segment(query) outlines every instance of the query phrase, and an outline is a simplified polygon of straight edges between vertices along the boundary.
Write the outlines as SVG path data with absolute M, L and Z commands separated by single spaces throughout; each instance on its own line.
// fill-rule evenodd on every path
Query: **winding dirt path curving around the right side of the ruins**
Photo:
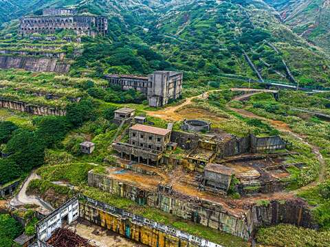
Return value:
M 234 99 L 232 100 L 244 100 L 248 97 L 251 97 L 252 95 L 256 95 L 259 94 L 261 92 L 255 92 L 255 93 L 248 93 L 245 95 L 241 95 L 239 97 L 234 97 Z M 292 129 L 289 127 L 288 124 L 286 124 L 283 121 L 278 121 L 278 120 L 272 120 L 272 119 L 267 119 L 265 117 L 261 117 L 259 115 L 256 115 L 254 113 L 251 113 L 248 110 L 245 109 L 236 109 L 236 108 L 232 108 L 229 106 L 230 103 L 226 104 L 226 107 L 236 113 L 239 113 L 240 115 L 242 115 L 243 117 L 249 117 L 249 118 L 254 118 L 254 119 L 260 119 L 263 121 L 267 121 L 268 123 L 270 123 L 270 125 L 272 125 L 274 128 L 280 130 L 281 132 L 285 132 L 287 134 L 290 134 L 294 137 L 296 137 L 297 139 L 299 139 L 300 141 L 302 141 L 303 143 L 305 143 L 306 145 L 309 145 L 309 147 L 311 148 L 312 152 L 316 155 L 316 157 L 318 158 L 318 162 L 320 163 L 320 171 L 319 171 L 319 176 L 318 176 L 318 182 L 323 182 L 325 180 L 325 176 L 326 176 L 326 163 L 325 163 L 325 159 L 323 158 L 322 154 L 320 153 L 320 148 L 318 148 L 316 145 L 313 145 L 311 143 L 309 143 L 305 137 L 303 137 L 300 134 L 296 134 L 295 132 L 292 131 Z M 307 187 L 302 187 L 300 188 L 300 190 L 302 189 L 307 189 L 309 188 L 311 185 L 315 185 L 316 182 L 311 183 L 310 185 L 307 185 Z

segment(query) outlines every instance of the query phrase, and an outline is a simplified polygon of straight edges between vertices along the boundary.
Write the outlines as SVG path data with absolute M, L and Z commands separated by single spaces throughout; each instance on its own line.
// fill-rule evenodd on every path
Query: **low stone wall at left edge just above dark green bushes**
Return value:
M 19 110 L 24 113 L 30 113 L 33 115 L 40 116 L 64 116 L 66 114 L 65 110 L 60 110 L 56 108 L 51 108 L 48 106 L 35 106 L 26 104 L 25 102 L 14 101 L 10 99 L 0 98 L 0 108 L 7 108 L 11 110 Z

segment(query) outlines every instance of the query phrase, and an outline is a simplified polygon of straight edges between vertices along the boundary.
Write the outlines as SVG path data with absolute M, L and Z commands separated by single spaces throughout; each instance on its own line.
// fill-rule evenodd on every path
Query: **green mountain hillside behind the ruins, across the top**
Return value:
M 287 12 L 285 20 L 293 25 L 294 20 L 306 16 L 303 3 L 306 1 L 274 1 L 272 5 L 270 1 L 254 0 L 30 1 L 28 4 L 17 1 L 14 10 L 20 11 L 14 12 L 13 16 L 19 17 L 31 10 L 38 12 L 49 6 L 74 4 L 80 12 L 108 16 L 109 40 L 98 40 L 97 44 L 92 40 L 86 41 L 85 52 L 72 67 L 72 75 L 87 68 L 89 71 L 98 69 L 98 74 L 145 74 L 152 69 L 174 68 L 185 71 L 186 78 L 192 80 L 197 77 L 220 80 L 219 76 L 231 74 L 259 80 L 329 86 L 327 55 L 298 36 L 298 26 L 293 27 L 298 34 L 292 32 L 274 11 L 276 8 L 282 16 Z M 11 4 L 6 2 L 3 8 L 8 10 Z M 311 10 L 313 6 L 309 5 L 309 12 L 314 11 Z M 17 24 L 12 24 L 5 32 L 14 32 L 16 28 Z M 327 43 L 327 39 L 321 36 L 318 40 Z M 98 49 L 94 49 L 94 45 Z M 146 60 L 160 63 L 151 62 L 154 64 L 151 69 L 142 69 L 146 62 L 137 62 L 134 56 L 131 56 L 134 62 L 130 59 L 109 59 L 110 55 L 121 56 L 123 52 L 134 54 L 136 47 L 141 45 L 158 54 L 157 59 L 149 56 Z M 95 58 L 101 62 L 96 64 Z M 89 60 L 94 62 L 87 65 Z M 202 81 L 206 83 L 205 80 Z

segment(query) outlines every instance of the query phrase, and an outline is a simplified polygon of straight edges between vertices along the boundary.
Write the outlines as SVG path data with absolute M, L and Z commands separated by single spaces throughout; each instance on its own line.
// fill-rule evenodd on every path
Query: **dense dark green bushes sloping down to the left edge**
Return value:
M 0 184 L 8 183 L 30 172 L 34 167 L 43 165 L 46 148 L 54 147 L 65 138 L 69 130 L 81 126 L 84 121 L 93 117 L 94 104 L 90 99 L 85 99 L 67 106 L 65 117 L 34 118 L 35 130 L 33 131 L 22 128 L 14 130 L 17 127 L 13 124 L 0 122 L 0 132 L 1 125 L 8 126 L 7 132 L 3 130 L 3 140 L 8 139 L 8 133 L 14 130 L 3 148 L 3 152 L 9 156 L 0 159 Z

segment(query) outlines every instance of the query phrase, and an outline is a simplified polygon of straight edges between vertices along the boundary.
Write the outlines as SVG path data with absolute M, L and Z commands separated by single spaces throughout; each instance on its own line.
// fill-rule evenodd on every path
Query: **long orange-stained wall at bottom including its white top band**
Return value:
M 120 235 L 151 247 L 221 247 L 207 239 L 179 231 L 172 226 L 159 224 L 140 215 L 111 205 L 83 198 L 80 200 L 80 217 L 103 226 Z

